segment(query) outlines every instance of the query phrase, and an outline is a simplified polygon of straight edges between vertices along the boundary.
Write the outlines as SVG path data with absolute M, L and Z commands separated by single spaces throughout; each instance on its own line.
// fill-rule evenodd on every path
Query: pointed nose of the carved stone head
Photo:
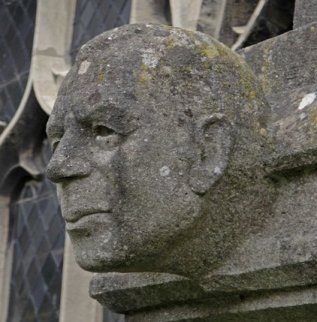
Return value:
M 88 176 L 91 165 L 84 149 L 84 146 L 66 144 L 62 139 L 47 165 L 47 177 L 55 183 L 61 183 Z

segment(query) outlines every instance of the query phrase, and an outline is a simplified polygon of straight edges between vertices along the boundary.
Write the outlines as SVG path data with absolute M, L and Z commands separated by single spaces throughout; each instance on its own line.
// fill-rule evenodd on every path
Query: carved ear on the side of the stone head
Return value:
M 223 175 L 233 143 L 233 127 L 223 114 L 201 118 L 195 129 L 198 144 L 197 159 L 190 172 L 190 187 L 205 194 Z

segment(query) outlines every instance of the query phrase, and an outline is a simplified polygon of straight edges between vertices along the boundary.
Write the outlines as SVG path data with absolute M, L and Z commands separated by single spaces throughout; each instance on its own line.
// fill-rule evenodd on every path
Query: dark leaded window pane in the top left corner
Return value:
M 29 75 L 36 0 L 0 0 L 0 121 L 8 123 Z

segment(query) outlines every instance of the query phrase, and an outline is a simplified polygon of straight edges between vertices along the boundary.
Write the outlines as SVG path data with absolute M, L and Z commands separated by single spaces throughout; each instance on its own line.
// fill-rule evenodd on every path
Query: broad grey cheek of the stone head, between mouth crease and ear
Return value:
M 149 142 L 147 148 L 134 144 L 127 149 L 122 176 L 126 229 L 151 238 L 186 228 L 198 207 L 197 196 L 188 185 L 189 161 L 172 147 L 156 147 Z

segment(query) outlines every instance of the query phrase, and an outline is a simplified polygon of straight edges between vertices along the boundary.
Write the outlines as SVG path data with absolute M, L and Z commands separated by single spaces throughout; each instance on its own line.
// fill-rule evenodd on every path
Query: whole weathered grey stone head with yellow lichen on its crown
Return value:
M 78 263 L 212 271 L 265 222 L 265 99 L 247 64 L 199 32 L 127 25 L 84 45 L 47 132 Z

